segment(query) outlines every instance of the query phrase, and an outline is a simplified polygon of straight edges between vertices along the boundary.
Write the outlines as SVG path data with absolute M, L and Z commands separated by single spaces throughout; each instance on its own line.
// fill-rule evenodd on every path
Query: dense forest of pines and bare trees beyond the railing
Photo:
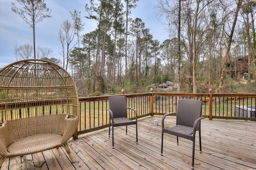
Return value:
M 62 64 L 80 96 L 148 92 L 166 81 L 176 84 L 174 92 L 256 92 L 256 82 L 240 84 L 243 73 L 256 79 L 255 0 L 158 0 L 157 15 L 166 20 L 156 24 L 169 30 L 162 43 L 140 18 L 129 17 L 137 1 L 90 0 L 60 25 L 62 60 L 39 47 L 34 56 Z M 98 25 L 81 35 L 84 16 Z

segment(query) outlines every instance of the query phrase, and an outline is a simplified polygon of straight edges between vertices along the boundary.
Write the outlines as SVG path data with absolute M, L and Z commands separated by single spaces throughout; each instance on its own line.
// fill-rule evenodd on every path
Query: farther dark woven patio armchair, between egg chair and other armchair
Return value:
M 133 108 L 127 107 L 126 97 L 124 96 L 113 96 L 108 98 L 110 112 L 109 117 L 109 131 L 108 137 L 110 137 L 110 121 L 112 121 L 112 148 L 114 149 L 114 127 L 125 126 L 127 134 L 127 125 L 136 125 L 136 144 L 138 144 L 138 130 L 137 130 L 137 111 Z M 127 118 L 127 109 L 131 109 L 135 113 L 135 120 L 132 121 Z

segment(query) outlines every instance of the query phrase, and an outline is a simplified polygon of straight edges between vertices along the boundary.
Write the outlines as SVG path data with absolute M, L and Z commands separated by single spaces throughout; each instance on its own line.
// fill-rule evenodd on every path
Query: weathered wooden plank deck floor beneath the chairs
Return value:
M 1 170 L 189 170 L 191 167 L 192 141 L 164 134 L 164 152 L 161 148 L 161 121 L 154 126 L 154 118 L 138 121 L 138 145 L 135 126 L 115 127 L 114 147 L 108 129 L 79 135 L 68 141 L 76 159 L 72 164 L 63 148 L 37 154 L 6 159 Z M 175 125 L 175 118 L 166 118 L 166 125 Z M 202 153 L 196 135 L 195 170 L 250 170 L 256 169 L 256 122 L 203 119 Z

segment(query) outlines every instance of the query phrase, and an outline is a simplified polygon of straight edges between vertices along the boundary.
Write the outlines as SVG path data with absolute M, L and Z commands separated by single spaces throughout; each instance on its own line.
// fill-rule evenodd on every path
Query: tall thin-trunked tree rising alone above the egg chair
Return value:
M 20 16 L 33 29 L 34 59 L 36 59 L 35 25 L 44 18 L 50 18 L 52 10 L 46 7 L 44 0 L 16 0 L 22 8 L 18 8 L 12 2 L 12 11 Z

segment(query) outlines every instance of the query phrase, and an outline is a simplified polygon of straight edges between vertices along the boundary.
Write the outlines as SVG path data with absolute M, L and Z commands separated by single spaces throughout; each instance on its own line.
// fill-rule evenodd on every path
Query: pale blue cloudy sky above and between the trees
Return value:
M 12 12 L 12 2 L 18 6 L 15 0 L 0 0 L 0 68 L 16 61 L 13 51 L 15 45 L 33 45 L 33 30 L 20 16 Z M 82 35 L 94 31 L 97 23 L 83 17 L 87 15 L 84 7 L 85 4 L 90 4 L 89 0 L 45 0 L 44 3 L 52 10 L 52 18 L 45 18 L 35 25 L 36 47 L 39 45 L 50 48 L 53 51 L 52 57 L 60 59 L 61 44 L 58 31 L 64 20 L 72 21 L 69 12 L 81 12 L 84 23 Z M 139 0 L 136 4 L 137 7 L 132 9 L 130 18 L 142 19 L 145 28 L 150 29 L 153 39 L 158 39 L 160 43 L 168 39 L 165 25 L 160 23 L 157 17 L 158 0 Z

